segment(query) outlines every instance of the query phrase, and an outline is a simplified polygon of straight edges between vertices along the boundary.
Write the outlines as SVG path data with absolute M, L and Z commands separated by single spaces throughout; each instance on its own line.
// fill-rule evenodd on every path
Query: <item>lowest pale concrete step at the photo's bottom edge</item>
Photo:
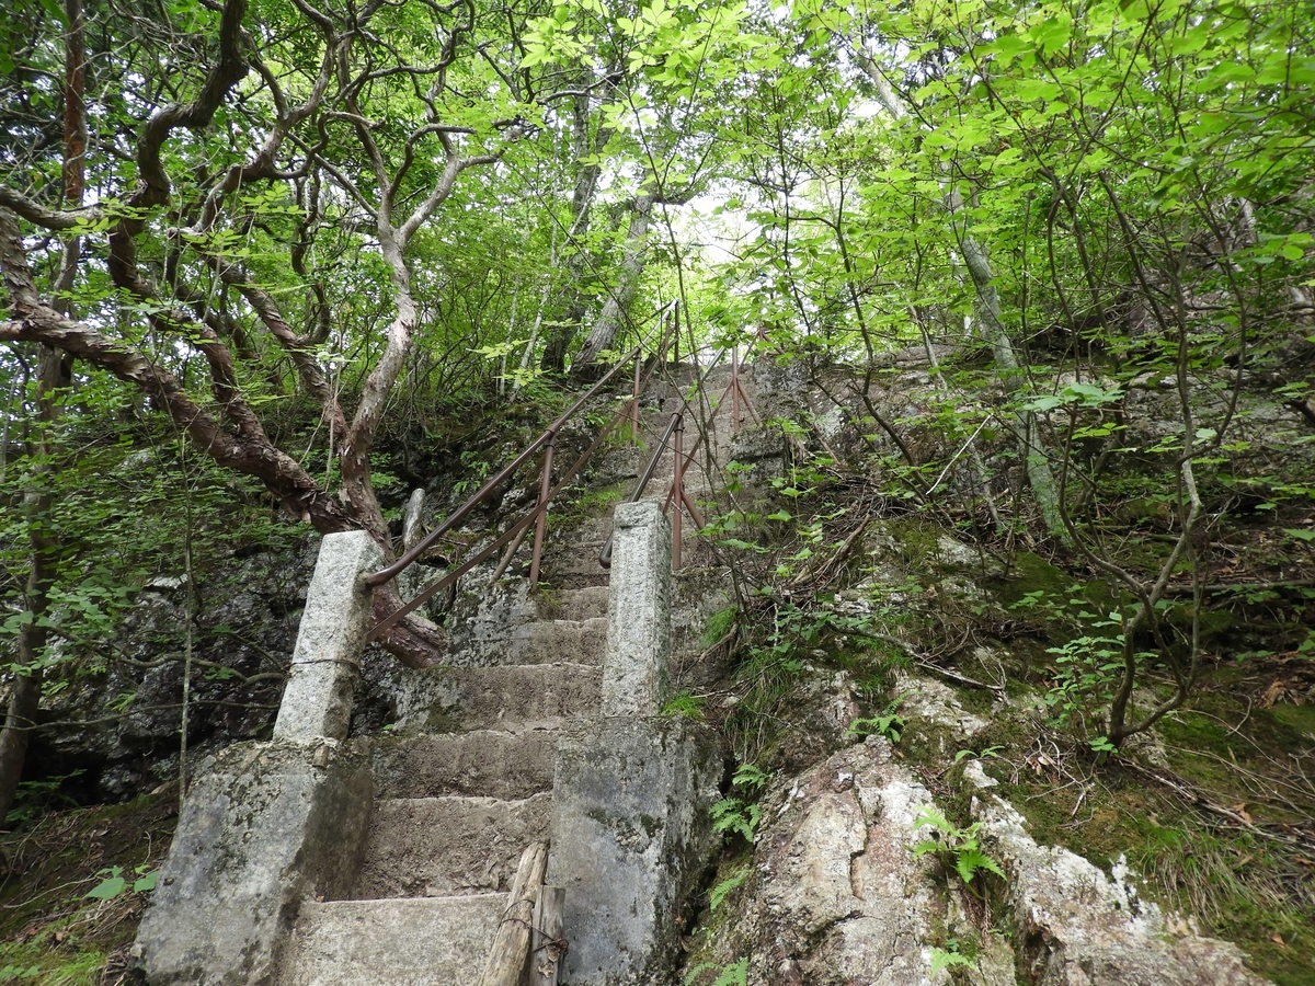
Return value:
M 506 894 L 301 906 L 279 986 L 469 986 Z

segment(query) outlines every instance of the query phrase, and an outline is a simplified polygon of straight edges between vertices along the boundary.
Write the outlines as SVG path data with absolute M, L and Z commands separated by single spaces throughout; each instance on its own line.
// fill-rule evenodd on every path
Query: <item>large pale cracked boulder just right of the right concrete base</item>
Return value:
M 931 982 L 926 943 L 947 906 L 935 864 L 913 857 L 930 806 L 876 736 L 797 777 L 764 806 L 752 877 L 714 954 L 747 956 L 751 983 Z

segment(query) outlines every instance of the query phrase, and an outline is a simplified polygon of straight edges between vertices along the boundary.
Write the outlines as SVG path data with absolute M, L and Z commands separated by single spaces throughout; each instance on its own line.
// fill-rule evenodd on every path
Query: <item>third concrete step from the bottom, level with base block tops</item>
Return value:
M 443 794 L 529 798 L 552 789 L 555 730 L 477 730 L 375 741 L 375 787 L 381 798 Z

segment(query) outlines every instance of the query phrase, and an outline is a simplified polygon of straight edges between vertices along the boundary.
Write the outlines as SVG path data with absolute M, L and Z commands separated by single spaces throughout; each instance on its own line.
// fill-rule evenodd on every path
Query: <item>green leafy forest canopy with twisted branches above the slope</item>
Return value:
M 16 722 L 47 631 L 71 632 L 51 601 L 108 619 L 124 581 L 91 577 L 96 525 L 70 526 L 60 497 L 92 489 L 124 515 L 113 463 L 92 463 L 128 455 L 125 430 L 206 459 L 226 477 L 216 496 L 263 492 L 392 556 L 404 490 L 377 468 L 381 430 L 551 394 L 672 298 L 692 344 L 757 339 L 760 359 L 869 380 L 909 346 L 982 354 L 1027 476 L 997 502 L 968 456 L 984 523 L 1122 585 L 1132 668 L 1135 632 L 1159 639 L 1168 581 L 1199 547 L 1197 471 L 1233 447 L 1244 383 L 1270 380 L 1315 419 L 1294 362 L 1315 284 L 1306 14 L 1295 0 L 11 3 L 0 472 L 20 509 L 4 626 L 30 686 Z M 1177 393 L 1180 427 L 1130 450 L 1120 401 L 1148 381 Z M 968 448 L 985 427 L 974 396 L 947 402 Z M 903 454 L 907 496 L 932 498 L 942 463 L 913 461 L 874 410 L 871 425 Z M 1178 490 L 1174 547 L 1149 573 L 1088 527 L 1107 461 L 1131 454 L 1164 456 Z M 376 609 L 396 605 L 381 588 Z M 418 618 L 387 644 L 413 664 L 441 652 Z M 1134 681 L 1114 698 L 1115 744 L 1140 727 L 1124 722 Z

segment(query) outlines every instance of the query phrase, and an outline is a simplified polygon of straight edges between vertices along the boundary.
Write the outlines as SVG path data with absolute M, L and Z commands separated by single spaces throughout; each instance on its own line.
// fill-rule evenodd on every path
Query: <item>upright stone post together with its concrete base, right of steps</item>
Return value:
M 722 765 L 711 731 L 661 716 L 671 655 L 671 527 L 617 507 L 602 718 L 558 749 L 548 883 L 565 887 L 563 979 L 665 982 L 680 908 L 713 849 Z

